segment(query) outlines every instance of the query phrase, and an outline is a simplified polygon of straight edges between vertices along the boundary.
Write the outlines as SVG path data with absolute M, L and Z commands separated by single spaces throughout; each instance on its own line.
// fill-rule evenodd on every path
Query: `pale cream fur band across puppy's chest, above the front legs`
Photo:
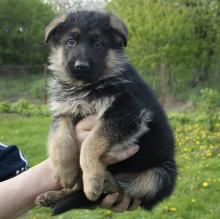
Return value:
M 113 97 L 104 97 L 88 101 L 86 98 L 69 99 L 68 101 L 51 102 L 51 111 L 53 116 L 73 116 L 85 117 L 90 114 L 101 116 L 105 110 L 111 106 Z

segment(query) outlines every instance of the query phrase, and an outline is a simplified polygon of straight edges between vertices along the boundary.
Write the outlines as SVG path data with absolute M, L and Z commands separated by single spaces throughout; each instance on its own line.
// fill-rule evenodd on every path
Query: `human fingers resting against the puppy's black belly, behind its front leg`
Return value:
M 102 160 L 105 165 L 111 165 L 128 159 L 129 157 L 137 153 L 138 150 L 139 146 L 133 145 L 127 148 L 123 148 L 121 150 L 119 149 L 117 151 L 109 151 L 103 156 Z

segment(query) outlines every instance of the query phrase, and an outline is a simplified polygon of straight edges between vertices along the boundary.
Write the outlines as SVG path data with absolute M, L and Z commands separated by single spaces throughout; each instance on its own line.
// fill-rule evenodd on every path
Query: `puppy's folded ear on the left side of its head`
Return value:
M 55 29 L 63 23 L 67 18 L 67 15 L 61 15 L 59 17 L 54 18 L 45 28 L 45 37 L 44 42 L 48 43 L 52 33 L 54 33 Z

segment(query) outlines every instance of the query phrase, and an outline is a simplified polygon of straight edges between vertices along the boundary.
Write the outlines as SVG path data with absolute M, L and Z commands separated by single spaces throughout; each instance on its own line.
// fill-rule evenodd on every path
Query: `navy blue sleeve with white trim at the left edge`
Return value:
M 0 182 L 28 169 L 28 162 L 16 145 L 0 143 Z

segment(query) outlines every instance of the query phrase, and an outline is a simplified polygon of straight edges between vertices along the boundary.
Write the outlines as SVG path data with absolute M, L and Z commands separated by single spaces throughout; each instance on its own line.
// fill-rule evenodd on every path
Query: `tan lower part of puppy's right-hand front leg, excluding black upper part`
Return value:
M 101 126 L 95 127 L 82 144 L 80 165 L 83 172 L 84 192 L 89 200 L 95 201 L 102 193 L 105 165 L 100 158 L 109 147 L 109 141 L 103 136 Z

